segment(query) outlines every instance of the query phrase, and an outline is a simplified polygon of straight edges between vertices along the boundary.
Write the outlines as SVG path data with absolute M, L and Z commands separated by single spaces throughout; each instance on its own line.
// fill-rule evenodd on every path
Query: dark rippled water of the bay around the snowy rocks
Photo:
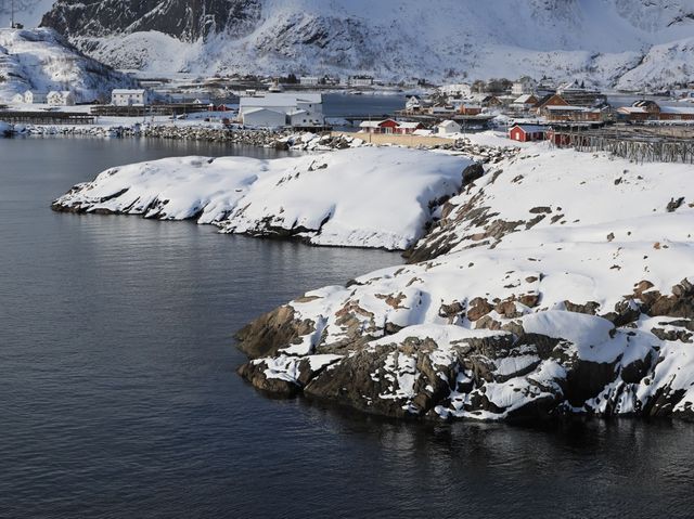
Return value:
M 267 399 L 233 330 L 399 261 L 49 210 L 222 146 L 0 140 L 0 517 L 692 517 L 694 426 L 399 424 Z

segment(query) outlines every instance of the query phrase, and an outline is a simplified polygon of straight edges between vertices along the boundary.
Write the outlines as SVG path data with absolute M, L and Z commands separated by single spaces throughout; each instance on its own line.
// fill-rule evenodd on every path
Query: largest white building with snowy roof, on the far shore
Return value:
M 239 117 L 245 126 L 254 127 L 321 127 L 323 96 L 321 94 L 268 93 L 264 96 L 241 98 Z

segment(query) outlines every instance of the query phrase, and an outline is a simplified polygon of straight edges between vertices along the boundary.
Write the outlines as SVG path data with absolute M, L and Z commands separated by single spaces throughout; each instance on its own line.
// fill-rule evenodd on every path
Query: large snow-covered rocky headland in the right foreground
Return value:
M 240 373 L 389 416 L 693 418 L 693 185 L 689 165 L 528 148 L 445 205 L 416 263 L 242 329 Z

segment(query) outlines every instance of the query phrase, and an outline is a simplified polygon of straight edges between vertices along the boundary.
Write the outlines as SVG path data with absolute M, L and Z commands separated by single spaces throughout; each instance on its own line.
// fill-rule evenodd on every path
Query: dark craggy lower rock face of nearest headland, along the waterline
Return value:
M 678 288 L 687 285 L 683 281 L 658 300 L 667 298 L 677 315 L 693 311 L 691 293 Z M 309 299 L 298 300 L 297 307 L 318 300 Z M 459 303 L 447 309 L 449 317 L 464 313 Z M 634 321 L 646 319 L 650 309 L 648 303 L 639 303 Z M 346 315 L 354 320 L 343 340 L 332 342 L 323 328 L 304 350 L 306 354 L 295 354 L 292 350 L 301 343 L 301 336 L 314 334 L 316 328 L 285 306 L 237 334 L 239 347 L 253 359 L 239 374 L 271 393 L 303 393 L 398 418 L 522 420 L 567 413 L 691 416 L 691 386 L 676 388 L 681 385 L 680 375 L 670 371 L 667 380 L 659 372 L 670 362 L 667 345 L 692 345 L 692 320 L 660 322 L 652 334 L 638 330 L 634 323 L 608 324 L 603 342 L 588 346 L 599 349 L 594 354 L 582 351 L 586 343 L 526 332 L 524 319 L 515 315 L 498 316 L 504 326 L 496 330 L 480 326 L 483 314 L 494 311 L 477 297 L 466 314 L 478 323 L 472 330 L 413 326 L 390 335 L 372 326 L 363 336 L 354 324 L 364 323 L 364 311 L 350 308 L 340 314 L 343 325 L 349 321 Z M 586 323 L 608 323 L 596 316 L 590 320 L 595 321 Z M 514 321 L 515 326 L 506 326 Z M 637 341 L 638 351 L 629 348 L 631 340 Z M 312 368 L 311 363 L 320 367 Z

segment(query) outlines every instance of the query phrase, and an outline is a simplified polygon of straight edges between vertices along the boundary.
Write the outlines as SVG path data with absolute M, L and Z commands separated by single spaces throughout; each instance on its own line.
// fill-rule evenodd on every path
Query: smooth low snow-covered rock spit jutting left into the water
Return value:
M 316 245 L 404 249 L 460 191 L 471 164 L 387 147 L 271 160 L 168 158 L 104 171 L 53 208 L 196 219 L 223 232 L 295 236 Z

